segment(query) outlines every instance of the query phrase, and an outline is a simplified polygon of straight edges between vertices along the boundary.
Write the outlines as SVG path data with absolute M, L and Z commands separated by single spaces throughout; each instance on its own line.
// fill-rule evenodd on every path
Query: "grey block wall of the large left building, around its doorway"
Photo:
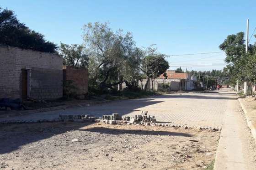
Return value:
M 28 97 L 62 97 L 62 57 L 0 45 L 0 98 L 21 98 L 21 69 L 28 70 Z

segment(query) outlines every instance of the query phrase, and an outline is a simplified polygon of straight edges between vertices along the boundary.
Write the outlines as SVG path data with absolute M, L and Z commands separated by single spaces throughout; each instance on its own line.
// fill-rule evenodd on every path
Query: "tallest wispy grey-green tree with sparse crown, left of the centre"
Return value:
M 83 30 L 84 41 L 90 52 L 90 82 L 98 84 L 100 92 L 105 88 L 113 89 L 113 86 L 123 82 L 123 66 L 135 45 L 132 34 L 123 34 L 122 30 L 114 32 L 107 23 L 98 22 L 89 22 Z

